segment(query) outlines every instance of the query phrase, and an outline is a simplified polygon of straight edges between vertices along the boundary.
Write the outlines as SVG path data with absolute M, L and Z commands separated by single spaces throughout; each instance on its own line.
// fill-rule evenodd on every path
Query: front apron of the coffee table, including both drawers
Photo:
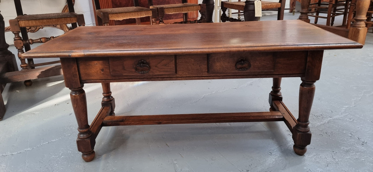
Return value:
M 308 51 L 244 51 L 83 57 L 76 58 L 76 66 L 82 83 L 303 77 L 308 58 L 311 58 L 308 54 Z

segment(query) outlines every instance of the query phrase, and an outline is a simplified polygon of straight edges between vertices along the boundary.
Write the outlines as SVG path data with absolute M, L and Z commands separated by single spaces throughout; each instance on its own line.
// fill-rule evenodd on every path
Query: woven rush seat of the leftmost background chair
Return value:
M 22 15 L 17 16 L 15 19 L 18 21 L 19 27 L 29 27 L 76 23 L 78 22 L 78 16 L 76 13 L 48 13 Z

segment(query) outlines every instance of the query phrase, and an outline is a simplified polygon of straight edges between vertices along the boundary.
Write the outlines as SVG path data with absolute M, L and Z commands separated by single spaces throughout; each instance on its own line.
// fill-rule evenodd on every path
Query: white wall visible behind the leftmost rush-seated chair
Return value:
M 61 12 L 66 0 L 21 0 L 22 10 L 25 14 L 40 14 L 40 13 L 58 13 Z M 83 14 L 86 25 L 94 25 L 93 6 L 91 0 L 75 0 L 74 9 L 76 13 Z M 0 2 L 1 15 L 4 17 L 5 26 L 9 26 L 9 19 L 16 18 L 16 9 L 13 0 L 1 0 Z M 58 36 L 63 34 L 63 31 L 55 28 L 44 28 L 35 33 L 30 33 L 32 39 L 40 37 Z M 14 34 L 12 32 L 5 33 L 6 42 L 9 45 L 13 44 Z

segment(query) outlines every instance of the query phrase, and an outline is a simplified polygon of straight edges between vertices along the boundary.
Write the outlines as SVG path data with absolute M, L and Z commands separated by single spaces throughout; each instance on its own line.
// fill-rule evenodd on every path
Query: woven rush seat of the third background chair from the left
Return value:
M 192 12 L 192 11 L 198 11 L 201 9 L 201 6 L 199 4 L 192 4 L 192 3 L 150 6 L 150 8 L 160 8 L 160 7 L 164 8 L 165 14 L 187 13 L 187 12 Z

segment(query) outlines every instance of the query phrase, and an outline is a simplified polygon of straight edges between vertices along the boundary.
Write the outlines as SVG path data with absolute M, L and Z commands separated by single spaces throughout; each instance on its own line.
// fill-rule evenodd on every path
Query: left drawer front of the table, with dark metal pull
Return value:
M 125 75 L 167 75 L 175 74 L 175 56 L 131 56 L 110 57 L 110 74 Z

